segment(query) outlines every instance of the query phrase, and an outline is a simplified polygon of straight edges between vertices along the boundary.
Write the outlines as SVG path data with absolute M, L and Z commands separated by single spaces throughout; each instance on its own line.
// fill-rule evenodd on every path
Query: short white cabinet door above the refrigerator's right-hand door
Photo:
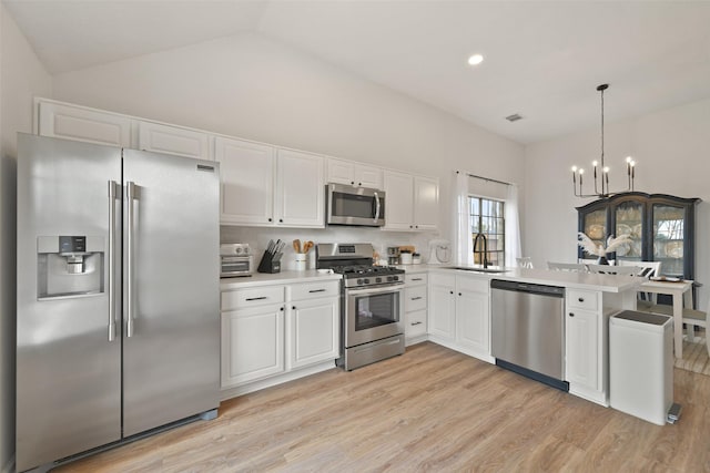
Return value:
M 140 122 L 139 148 L 178 156 L 210 160 L 210 135 L 178 126 Z

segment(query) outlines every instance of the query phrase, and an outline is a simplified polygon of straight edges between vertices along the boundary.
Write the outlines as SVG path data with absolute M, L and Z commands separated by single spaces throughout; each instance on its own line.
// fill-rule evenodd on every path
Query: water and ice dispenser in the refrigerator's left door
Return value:
M 89 296 L 103 292 L 105 239 L 100 236 L 37 238 L 37 297 Z

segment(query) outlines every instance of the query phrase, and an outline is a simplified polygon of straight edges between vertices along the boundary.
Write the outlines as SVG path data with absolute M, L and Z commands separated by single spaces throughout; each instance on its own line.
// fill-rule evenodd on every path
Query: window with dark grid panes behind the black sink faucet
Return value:
M 505 266 L 506 223 L 504 203 L 484 197 L 469 197 L 470 199 L 470 232 L 475 241 L 479 233 L 486 237 L 488 264 L 491 266 Z M 474 248 L 474 263 L 483 264 L 483 241 L 478 239 L 478 246 Z

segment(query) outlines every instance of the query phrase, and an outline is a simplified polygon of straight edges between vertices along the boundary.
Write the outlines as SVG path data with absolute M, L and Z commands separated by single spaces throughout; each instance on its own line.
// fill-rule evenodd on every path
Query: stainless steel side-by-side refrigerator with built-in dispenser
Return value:
M 17 469 L 216 415 L 219 164 L 18 135 Z

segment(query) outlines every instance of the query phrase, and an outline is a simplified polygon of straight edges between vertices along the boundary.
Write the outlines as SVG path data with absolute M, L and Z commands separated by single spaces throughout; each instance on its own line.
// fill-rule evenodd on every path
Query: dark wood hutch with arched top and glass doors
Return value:
M 629 192 L 577 207 L 579 232 L 596 243 L 628 234 L 631 243 L 608 259 L 661 261 L 663 276 L 693 279 L 696 204 L 699 198 Z M 596 258 L 581 248 L 579 258 Z

